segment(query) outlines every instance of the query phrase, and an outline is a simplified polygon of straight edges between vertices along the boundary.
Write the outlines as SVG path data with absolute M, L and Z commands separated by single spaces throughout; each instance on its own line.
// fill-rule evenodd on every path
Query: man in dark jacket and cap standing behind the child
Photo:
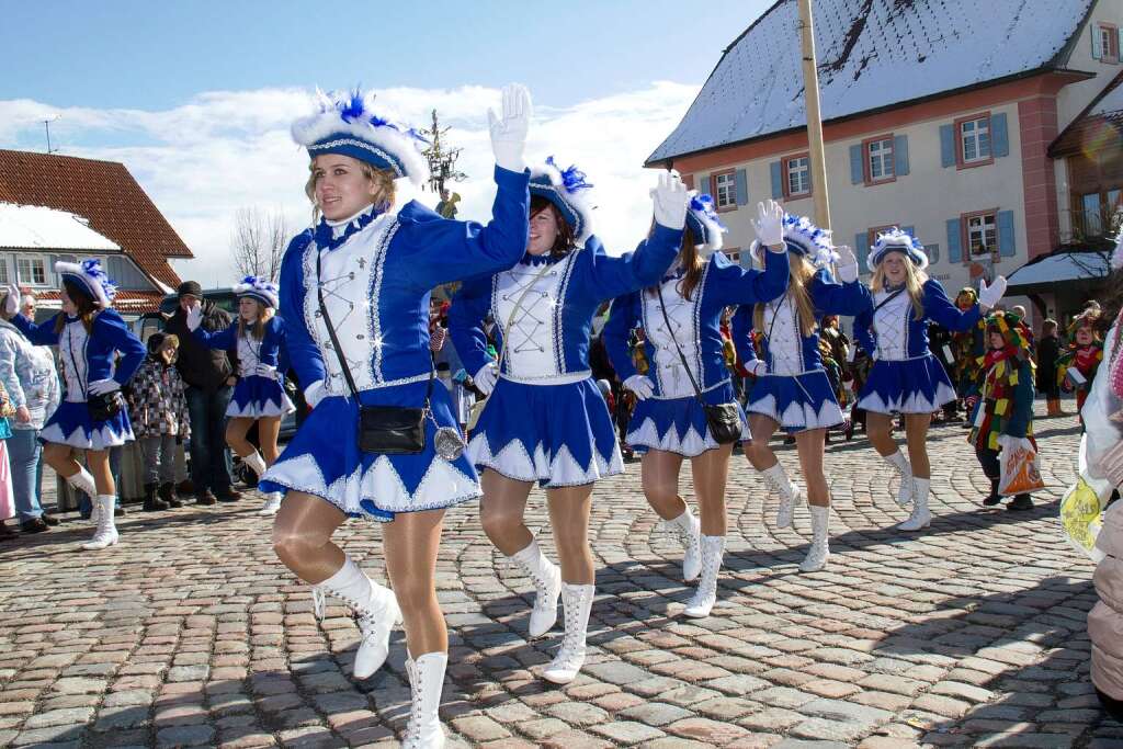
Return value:
M 188 411 L 191 417 L 191 482 L 199 504 L 234 502 L 238 492 L 230 486 L 230 450 L 226 445 L 226 408 L 234 392 L 236 353 L 212 350 L 188 330 L 188 308 L 199 302 L 203 310 L 202 327 L 208 332 L 226 330 L 230 316 L 214 302 L 203 299 L 195 281 L 184 281 L 179 287 L 180 307 L 168 319 L 165 330 L 180 338 L 176 368 L 186 385 Z

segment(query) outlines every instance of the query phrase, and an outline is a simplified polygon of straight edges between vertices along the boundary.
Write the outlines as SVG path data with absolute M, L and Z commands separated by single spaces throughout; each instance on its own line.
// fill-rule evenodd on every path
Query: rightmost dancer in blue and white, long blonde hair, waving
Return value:
M 866 410 L 866 432 L 874 449 L 901 475 L 897 502 L 913 503 L 909 519 L 897 528 L 921 530 L 932 522 L 928 427 L 932 412 L 957 398 L 943 365 L 929 351 L 929 320 L 953 332 L 970 330 L 1002 299 L 1006 280 L 998 276 L 989 287 L 982 282 L 979 301 L 962 311 L 940 282 L 924 272 L 924 246 L 897 228 L 878 235 L 868 263 L 874 295 L 869 308 L 855 319 L 853 332 L 875 362 L 858 394 L 858 407 Z M 895 413 L 904 415 L 909 458 L 893 439 Z

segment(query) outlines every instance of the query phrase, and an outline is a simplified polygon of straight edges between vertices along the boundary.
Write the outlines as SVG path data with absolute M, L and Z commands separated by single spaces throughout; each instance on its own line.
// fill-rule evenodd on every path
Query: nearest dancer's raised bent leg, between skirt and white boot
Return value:
M 273 550 L 305 583 L 317 585 L 344 566 L 344 552 L 331 535 L 347 515 L 304 492 L 289 492 L 273 521 Z

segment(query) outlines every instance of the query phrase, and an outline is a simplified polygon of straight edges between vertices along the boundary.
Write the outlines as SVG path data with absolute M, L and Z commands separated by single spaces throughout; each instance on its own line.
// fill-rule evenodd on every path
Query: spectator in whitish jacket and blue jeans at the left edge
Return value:
M 0 308 L 8 293 L 0 291 Z M 25 294 L 21 301 L 25 317 L 33 319 L 35 298 Z M 7 447 L 16 512 L 24 532 L 40 533 L 58 524 L 43 510 L 43 446 L 38 439 L 47 417 L 58 407 L 58 373 L 51 349 L 33 346 L 8 320 L 0 320 L 0 384 L 15 408 Z

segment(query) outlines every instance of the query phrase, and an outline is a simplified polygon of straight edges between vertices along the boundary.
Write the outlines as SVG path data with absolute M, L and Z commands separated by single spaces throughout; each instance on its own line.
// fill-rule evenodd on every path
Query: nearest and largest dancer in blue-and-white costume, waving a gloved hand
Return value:
M 432 385 L 429 295 L 441 283 L 510 267 L 526 253 L 530 95 L 511 86 L 502 118 L 490 112 L 497 192 L 487 226 L 442 219 L 417 201 L 396 204 L 396 177 L 428 177 L 423 144 L 372 106 L 358 92 L 335 94 L 293 126 L 312 158 L 307 192 L 322 218 L 285 253 L 281 314 L 313 408 L 261 488 L 285 492 L 273 530 L 281 560 L 316 586 L 317 601 L 332 593 L 354 606 L 363 634 L 357 677 L 382 665 L 390 630 L 404 619 L 412 710 L 403 745 L 440 747 L 437 709 L 448 663 L 436 591 L 441 521 L 446 508 L 478 497 L 480 484 L 453 449 L 463 444 L 448 391 Z M 427 402 L 420 453 L 360 451 L 359 404 L 421 410 Z M 348 515 L 393 521 L 382 533 L 393 592 L 331 542 Z

